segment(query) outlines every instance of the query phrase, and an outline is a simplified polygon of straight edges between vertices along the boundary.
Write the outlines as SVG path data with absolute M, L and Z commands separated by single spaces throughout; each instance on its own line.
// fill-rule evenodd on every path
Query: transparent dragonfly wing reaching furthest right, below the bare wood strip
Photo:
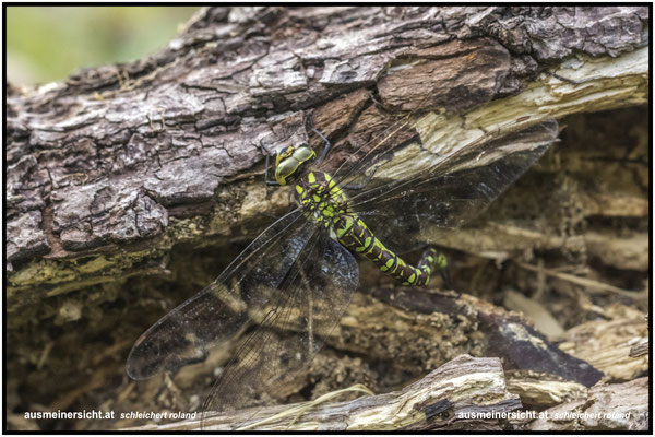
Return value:
M 350 208 L 391 249 L 414 249 L 428 227 L 457 228 L 481 213 L 537 162 L 558 132 L 555 120 L 495 132 L 417 177 L 354 191 Z

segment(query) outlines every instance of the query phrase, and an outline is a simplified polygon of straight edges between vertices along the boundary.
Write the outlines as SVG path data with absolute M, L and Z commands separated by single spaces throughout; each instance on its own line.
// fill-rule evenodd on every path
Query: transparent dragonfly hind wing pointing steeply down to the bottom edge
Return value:
M 282 399 L 298 371 L 322 347 L 357 287 L 355 258 L 329 233 L 314 233 L 276 287 L 243 284 L 270 296 L 251 311 L 259 328 L 239 346 L 203 405 L 202 427 L 214 412 Z M 254 399 L 254 397 L 258 397 Z

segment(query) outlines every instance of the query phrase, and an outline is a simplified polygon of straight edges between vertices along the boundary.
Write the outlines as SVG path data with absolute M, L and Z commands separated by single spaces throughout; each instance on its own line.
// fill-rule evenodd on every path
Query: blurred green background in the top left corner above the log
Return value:
M 7 76 L 14 85 L 64 80 L 83 67 L 156 51 L 198 11 L 190 7 L 8 7 Z

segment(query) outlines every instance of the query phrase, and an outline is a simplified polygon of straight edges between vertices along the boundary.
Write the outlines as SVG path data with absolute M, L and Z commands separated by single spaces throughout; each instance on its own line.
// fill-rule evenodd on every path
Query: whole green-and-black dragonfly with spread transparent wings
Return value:
M 420 144 L 416 113 L 397 120 L 341 162 L 307 143 L 275 156 L 270 178 L 290 186 L 297 206 L 262 232 L 221 275 L 145 331 L 127 362 L 133 379 L 204 361 L 231 349 L 202 405 L 201 426 L 216 412 L 284 399 L 338 324 L 359 282 L 356 257 L 405 286 L 446 272 L 428 247 L 412 265 L 406 250 L 428 227 L 451 232 L 485 210 L 556 141 L 556 120 L 499 128 L 408 178 L 389 177 L 393 154 Z M 234 344 L 234 339 L 241 339 Z

